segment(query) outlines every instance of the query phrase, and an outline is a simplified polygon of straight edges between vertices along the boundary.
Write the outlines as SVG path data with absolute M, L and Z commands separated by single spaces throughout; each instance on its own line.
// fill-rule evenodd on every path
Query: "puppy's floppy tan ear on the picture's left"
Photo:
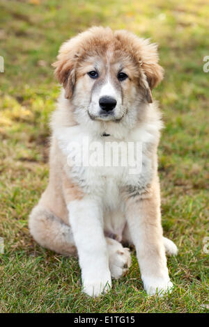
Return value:
M 71 41 L 71 40 L 70 40 Z M 70 41 L 63 43 L 57 56 L 57 61 L 52 64 L 55 67 L 54 74 L 59 83 L 63 84 L 65 89 L 65 98 L 72 97 L 76 81 L 76 62 L 77 54 L 75 47 L 72 47 Z

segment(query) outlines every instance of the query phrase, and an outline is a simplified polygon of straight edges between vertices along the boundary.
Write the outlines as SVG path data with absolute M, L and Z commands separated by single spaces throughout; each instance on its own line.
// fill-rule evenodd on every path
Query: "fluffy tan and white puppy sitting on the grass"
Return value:
M 130 267 L 122 244 L 135 246 L 146 292 L 168 292 L 165 251 L 175 255 L 177 248 L 163 237 L 160 216 L 162 122 L 151 93 L 163 77 L 157 46 L 93 27 L 63 43 L 53 65 L 63 88 L 51 121 L 49 184 L 29 217 L 31 234 L 41 246 L 78 255 L 89 296 L 107 292 L 111 277 Z M 124 149 L 136 144 L 134 169 Z M 100 161 L 107 145 L 113 151 L 105 163 L 117 154 L 127 164 L 95 164 L 93 150 Z

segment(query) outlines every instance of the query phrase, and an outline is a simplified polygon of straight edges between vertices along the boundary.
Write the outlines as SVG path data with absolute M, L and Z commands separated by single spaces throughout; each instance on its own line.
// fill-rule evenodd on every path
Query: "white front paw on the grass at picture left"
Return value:
M 106 294 L 111 289 L 111 276 L 105 276 L 103 278 L 94 278 L 93 280 L 84 280 L 83 292 L 92 297 L 98 297 L 102 294 Z

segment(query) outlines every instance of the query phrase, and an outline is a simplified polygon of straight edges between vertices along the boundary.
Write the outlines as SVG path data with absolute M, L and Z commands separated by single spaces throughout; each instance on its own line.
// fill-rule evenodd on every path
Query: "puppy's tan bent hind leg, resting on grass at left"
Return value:
M 63 223 L 47 208 L 37 205 L 29 216 L 33 238 L 45 248 L 61 255 L 75 255 L 76 248 L 70 226 Z

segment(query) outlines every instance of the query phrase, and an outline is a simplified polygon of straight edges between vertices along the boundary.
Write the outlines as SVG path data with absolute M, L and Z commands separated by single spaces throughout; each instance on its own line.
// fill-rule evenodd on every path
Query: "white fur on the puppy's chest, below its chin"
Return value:
M 121 235 L 125 226 L 121 189 L 125 186 L 144 187 L 150 182 L 153 165 L 147 155 L 147 145 L 156 141 L 155 133 L 150 133 L 150 129 L 147 130 L 144 127 L 133 130 L 129 137 L 125 141 L 123 140 L 127 149 L 128 143 L 138 142 L 141 144 L 141 157 L 138 158 L 141 163 L 137 173 L 130 171 L 132 169 L 132 166 L 130 166 L 130 162 L 132 162 L 130 155 L 132 156 L 132 153 L 125 152 L 127 157 L 126 165 L 123 165 L 124 161 L 121 161 L 121 158 L 123 159 L 124 152 L 121 147 L 118 147 L 119 164 L 114 165 L 112 164 L 113 161 L 109 161 L 109 152 L 106 153 L 104 150 L 105 143 L 121 143 L 120 140 L 118 141 L 111 136 L 100 136 L 100 134 L 95 137 L 90 132 L 81 129 L 79 125 L 56 129 L 54 136 L 66 158 L 65 172 L 71 180 L 75 180 L 84 193 L 90 194 L 100 202 L 104 213 L 104 230 Z M 85 143 L 87 140 L 88 145 Z M 93 155 L 92 157 L 92 143 L 94 145 L 95 143 L 100 144 L 103 148 L 104 159 L 107 159 L 106 161 L 100 161 L 100 153 L 98 156 Z M 80 152 L 79 155 L 78 152 Z M 111 155 L 112 153 L 114 152 L 111 152 Z M 79 158 L 79 164 L 75 160 L 76 156 Z M 88 158 L 87 161 L 86 158 Z M 111 162 L 111 164 L 106 165 L 106 162 Z

